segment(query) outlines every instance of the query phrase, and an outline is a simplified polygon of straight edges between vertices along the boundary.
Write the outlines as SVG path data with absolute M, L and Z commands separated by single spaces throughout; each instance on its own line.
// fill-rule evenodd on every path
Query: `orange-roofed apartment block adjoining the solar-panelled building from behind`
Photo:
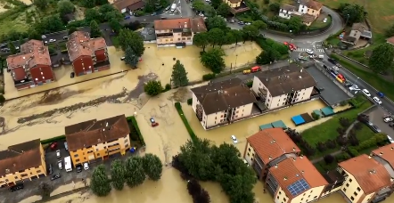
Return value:
M 282 128 L 269 128 L 246 138 L 243 158 L 255 170 L 259 180 L 265 180 L 268 169 L 285 158 L 296 158 L 300 148 Z

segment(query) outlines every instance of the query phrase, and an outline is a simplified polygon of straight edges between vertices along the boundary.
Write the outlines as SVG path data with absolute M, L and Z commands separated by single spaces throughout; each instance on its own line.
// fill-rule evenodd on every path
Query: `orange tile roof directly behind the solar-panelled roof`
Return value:
M 283 154 L 301 151 L 282 128 L 264 129 L 246 139 L 265 164 Z

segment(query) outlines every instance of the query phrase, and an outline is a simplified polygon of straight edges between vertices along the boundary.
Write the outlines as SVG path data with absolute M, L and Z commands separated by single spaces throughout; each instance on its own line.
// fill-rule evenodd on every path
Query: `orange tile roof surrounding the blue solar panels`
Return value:
M 276 166 L 270 167 L 269 173 L 275 177 L 287 197 L 291 199 L 303 193 L 292 196 L 288 190 L 288 186 L 296 181 L 304 179 L 308 183 L 309 189 L 328 184 L 307 157 L 286 158 Z

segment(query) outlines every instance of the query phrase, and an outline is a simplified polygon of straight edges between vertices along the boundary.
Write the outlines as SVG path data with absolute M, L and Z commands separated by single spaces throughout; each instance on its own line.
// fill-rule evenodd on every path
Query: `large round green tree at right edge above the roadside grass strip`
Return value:
M 388 43 L 378 45 L 373 49 L 369 58 L 369 67 L 375 73 L 379 73 L 393 67 L 394 47 Z

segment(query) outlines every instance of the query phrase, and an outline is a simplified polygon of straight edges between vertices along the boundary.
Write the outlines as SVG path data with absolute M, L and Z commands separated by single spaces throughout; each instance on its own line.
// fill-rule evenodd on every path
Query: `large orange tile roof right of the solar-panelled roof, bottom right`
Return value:
M 365 154 L 343 161 L 339 166 L 356 178 L 365 194 L 391 185 L 391 177 L 386 168 Z

